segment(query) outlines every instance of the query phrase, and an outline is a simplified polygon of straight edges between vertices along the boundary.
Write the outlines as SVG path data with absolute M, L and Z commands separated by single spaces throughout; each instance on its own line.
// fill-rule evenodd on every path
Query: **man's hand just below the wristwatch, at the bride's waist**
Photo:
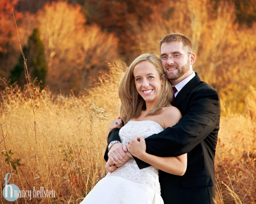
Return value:
M 130 159 L 129 156 L 126 155 L 127 147 L 122 143 L 115 143 L 108 152 L 108 162 L 109 164 L 114 165 L 123 165 L 127 160 Z

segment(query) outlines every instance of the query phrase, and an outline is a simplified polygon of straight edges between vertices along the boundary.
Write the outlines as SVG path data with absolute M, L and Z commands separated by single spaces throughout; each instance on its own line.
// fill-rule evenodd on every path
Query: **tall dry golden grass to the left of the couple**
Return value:
M 112 71 L 102 73 L 95 87 L 79 96 L 52 95 L 33 83 L 21 89 L 0 80 L 5 86 L 1 91 L 0 122 L 8 126 L 2 133 L 7 147 L 1 143 L 0 148 L 12 150 L 13 156 L 21 159 L 18 174 L 12 175 L 13 184 L 30 190 L 36 183 L 38 188 L 55 191 L 55 198 L 37 198 L 39 203 L 79 203 L 105 176 L 104 136 L 109 121 L 119 113 L 116 77 L 124 73 L 118 63 L 109 65 Z M 31 101 L 36 115 L 36 141 Z M 0 157 L 0 165 L 0 176 L 4 178 L 11 171 L 4 156 Z M 0 198 L 7 203 L 2 194 Z M 18 201 L 37 202 L 35 198 Z

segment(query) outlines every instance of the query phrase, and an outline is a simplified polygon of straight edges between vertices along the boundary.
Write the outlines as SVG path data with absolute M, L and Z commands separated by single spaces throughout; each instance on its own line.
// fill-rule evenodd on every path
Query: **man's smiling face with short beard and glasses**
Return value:
M 194 61 L 191 61 L 191 57 L 195 55 L 193 53 L 186 53 L 188 53 L 188 50 L 180 42 L 164 43 L 161 46 L 160 55 L 169 56 L 167 61 L 162 61 L 162 65 L 172 85 L 176 85 L 183 79 L 186 79 L 193 72 L 192 64 Z M 178 60 L 173 60 L 170 56 L 174 54 L 185 55 L 181 56 Z

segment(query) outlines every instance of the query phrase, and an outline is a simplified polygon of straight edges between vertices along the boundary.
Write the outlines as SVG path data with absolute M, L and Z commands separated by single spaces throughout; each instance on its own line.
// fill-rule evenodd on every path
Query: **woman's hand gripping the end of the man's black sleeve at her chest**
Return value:
M 134 156 L 141 159 L 146 154 L 146 142 L 143 137 L 134 137 L 127 146 L 128 151 Z

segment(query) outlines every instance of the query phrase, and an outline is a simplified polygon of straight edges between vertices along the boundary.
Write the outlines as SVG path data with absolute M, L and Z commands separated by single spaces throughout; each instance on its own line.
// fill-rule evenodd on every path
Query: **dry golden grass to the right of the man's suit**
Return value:
M 256 123 L 251 117 L 221 118 L 215 167 L 217 203 L 256 203 Z

